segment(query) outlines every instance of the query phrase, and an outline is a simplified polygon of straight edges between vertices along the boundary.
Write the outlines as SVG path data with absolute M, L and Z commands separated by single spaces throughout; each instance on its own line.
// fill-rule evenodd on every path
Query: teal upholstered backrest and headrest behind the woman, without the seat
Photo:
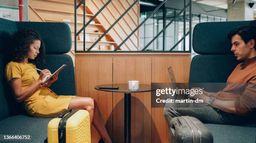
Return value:
M 67 52 L 72 46 L 71 31 L 67 24 L 59 22 L 13 22 L 0 18 L 0 120 L 19 113 L 4 78 L 5 49 L 10 43 L 10 35 L 21 29 L 33 29 L 40 33 L 46 47 L 46 64 L 36 65 L 38 69 L 54 72 L 62 64 L 67 67 L 59 73 L 59 79 L 50 87 L 59 95 L 75 95 L 74 65 Z M 16 105 L 15 105 L 16 104 Z M 15 113 L 16 112 L 16 113 Z

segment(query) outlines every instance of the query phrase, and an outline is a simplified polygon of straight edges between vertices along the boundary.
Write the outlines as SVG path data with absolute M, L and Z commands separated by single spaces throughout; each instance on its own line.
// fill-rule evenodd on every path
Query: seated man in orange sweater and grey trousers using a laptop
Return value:
M 202 108 L 173 108 L 166 106 L 164 115 L 168 125 L 177 116 L 194 116 L 204 123 L 238 124 L 253 121 L 256 107 L 256 26 L 246 25 L 228 34 L 231 51 L 238 64 L 227 80 L 225 89 L 217 93 L 204 91 L 190 96 L 208 105 Z M 246 86 L 245 86 L 246 85 Z M 254 113 L 255 114 L 255 113 Z M 255 115 L 254 115 L 255 116 Z

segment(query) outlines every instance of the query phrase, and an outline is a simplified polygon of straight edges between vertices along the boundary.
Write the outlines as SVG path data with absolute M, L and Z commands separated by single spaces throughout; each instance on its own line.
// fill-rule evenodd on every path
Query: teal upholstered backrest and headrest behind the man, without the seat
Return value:
M 192 47 L 200 55 L 192 58 L 189 82 L 226 82 L 239 63 L 230 51 L 232 44 L 227 35 L 236 27 L 250 24 L 256 24 L 256 21 L 197 24 L 193 31 Z

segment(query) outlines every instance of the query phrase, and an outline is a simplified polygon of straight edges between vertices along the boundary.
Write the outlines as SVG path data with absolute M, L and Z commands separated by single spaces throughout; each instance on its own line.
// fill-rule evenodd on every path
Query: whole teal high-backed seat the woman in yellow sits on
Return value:
M 46 64 L 38 64 L 38 69 L 47 68 L 55 71 L 62 64 L 67 64 L 67 67 L 59 73 L 59 79 L 50 88 L 58 95 L 75 95 L 74 65 L 71 57 L 65 54 L 72 47 L 70 28 L 65 23 L 14 22 L 2 18 L 0 25 L 0 134 L 30 135 L 30 140 L 20 142 L 43 143 L 47 138 L 47 124 L 51 118 L 28 116 L 22 106 L 13 99 L 4 76 L 7 64 L 5 49 L 10 44 L 10 36 L 13 32 L 21 29 L 36 30 L 46 47 Z

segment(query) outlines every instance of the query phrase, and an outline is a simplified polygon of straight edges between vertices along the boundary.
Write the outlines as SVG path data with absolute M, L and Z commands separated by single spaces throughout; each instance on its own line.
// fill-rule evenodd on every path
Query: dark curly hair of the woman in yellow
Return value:
M 11 44 L 8 48 L 8 61 L 23 62 L 24 58 L 28 57 L 30 45 L 35 40 L 40 40 L 41 45 L 39 48 L 39 54 L 34 60 L 29 60 L 33 64 L 38 64 L 39 61 L 45 63 L 45 47 L 44 41 L 38 32 L 34 30 L 19 30 L 13 33 L 11 36 Z

